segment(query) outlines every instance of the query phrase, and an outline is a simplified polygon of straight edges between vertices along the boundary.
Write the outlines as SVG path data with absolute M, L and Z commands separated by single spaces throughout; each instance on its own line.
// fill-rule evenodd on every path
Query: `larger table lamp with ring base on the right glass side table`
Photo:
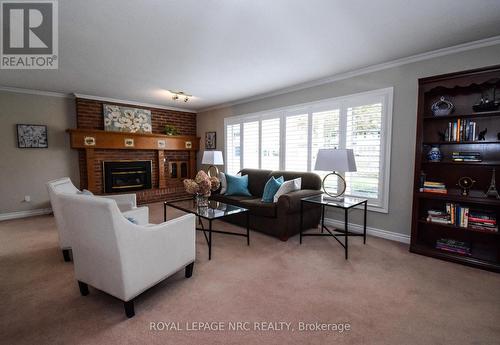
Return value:
M 321 187 L 323 188 L 325 194 L 329 195 L 335 200 L 341 200 L 343 199 L 343 195 L 345 193 L 346 183 L 344 178 L 339 175 L 337 171 L 356 171 L 354 152 L 352 149 L 319 149 L 318 156 L 316 157 L 316 163 L 314 164 L 314 170 L 332 171 L 323 178 Z M 325 188 L 325 181 L 330 175 L 337 175 L 344 184 L 341 188 L 341 191 L 337 194 L 329 193 Z

